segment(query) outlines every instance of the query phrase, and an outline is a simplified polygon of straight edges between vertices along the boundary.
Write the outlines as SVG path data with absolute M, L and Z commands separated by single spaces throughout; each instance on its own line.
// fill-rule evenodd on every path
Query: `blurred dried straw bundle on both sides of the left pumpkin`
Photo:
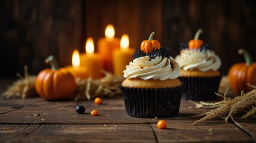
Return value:
M 28 98 L 38 95 L 35 90 L 35 79 L 36 76 L 31 76 L 28 73 L 28 67 L 25 66 L 25 77 L 17 73 L 20 77 L 19 80 L 13 83 L 7 91 L 2 95 L 7 98 Z M 124 80 L 124 77 L 115 76 L 111 73 L 103 71 L 105 77 L 98 80 L 93 80 L 92 78 L 76 79 L 77 91 L 74 94 L 74 101 L 80 100 L 90 100 L 96 97 L 115 97 L 121 95 L 119 86 Z

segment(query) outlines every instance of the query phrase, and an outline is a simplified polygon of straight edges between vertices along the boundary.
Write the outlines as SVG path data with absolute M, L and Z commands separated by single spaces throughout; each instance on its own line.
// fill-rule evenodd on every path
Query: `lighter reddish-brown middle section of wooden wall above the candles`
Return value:
M 155 32 L 161 42 L 163 33 L 162 1 L 86 1 L 86 37 L 105 37 L 107 24 L 113 24 L 115 36 L 129 35 L 130 47 L 139 48 L 141 42 Z

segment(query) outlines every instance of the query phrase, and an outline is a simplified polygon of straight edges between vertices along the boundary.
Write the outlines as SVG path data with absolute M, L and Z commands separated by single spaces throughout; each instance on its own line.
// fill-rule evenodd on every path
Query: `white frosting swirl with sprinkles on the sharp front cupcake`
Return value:
M 176 79 L 179 76 L 179 65 L 172 57 L 156 57 L 151 58 L 148 56 L 139 57 L 131 61 L 123 71 L 124 77 L 147 79 Z

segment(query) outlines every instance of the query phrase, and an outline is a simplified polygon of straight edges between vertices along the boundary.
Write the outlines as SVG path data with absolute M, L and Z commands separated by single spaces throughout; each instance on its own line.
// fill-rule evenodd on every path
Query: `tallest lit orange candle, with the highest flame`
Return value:
M 100 38 L 97 41 L 99 53 L 103 60 L 103 69 L 113 73 L 112 52 L 120 46 L 120 39 L 115 38 L 115 30 L 112 24 L 106 26 L 105 38 Z

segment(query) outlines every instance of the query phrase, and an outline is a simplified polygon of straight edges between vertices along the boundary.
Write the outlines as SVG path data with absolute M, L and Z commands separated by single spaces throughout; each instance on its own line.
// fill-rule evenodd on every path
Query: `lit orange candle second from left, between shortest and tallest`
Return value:
M 93 39 L 88 38 L 86 41 L 86 53 L 80 55 L 81 66 L 87 68 L 87 73 L 92 79 L 99 79 L 103 77 L 103 74 L 100 72 L 103 67 L 100 54 L 94 52 L 95 46 L 93 44 Z

